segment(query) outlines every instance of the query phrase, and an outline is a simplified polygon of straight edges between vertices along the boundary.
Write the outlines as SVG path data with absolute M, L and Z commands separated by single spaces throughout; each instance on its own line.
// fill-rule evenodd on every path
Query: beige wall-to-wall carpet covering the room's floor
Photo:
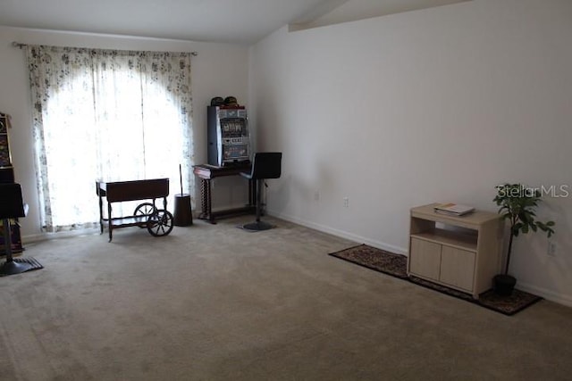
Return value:
M 569 380 L 572 309 L 507 317 L 327 255 L 278 219 L 26 244 L 0 278 L 3 380 Z

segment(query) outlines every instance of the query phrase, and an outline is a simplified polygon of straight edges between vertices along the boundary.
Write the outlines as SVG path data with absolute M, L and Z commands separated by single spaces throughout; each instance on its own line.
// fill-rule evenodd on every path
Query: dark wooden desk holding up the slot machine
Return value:
M 193 173 L 200 178 L 200 204 L 201 213 L 199 219 L 207 219 L 210 223 L 216 223 L 214 219 L 231 217 L 239 214 L 252 214 L 257 211 L 257 186 L 253 180 L 248 180 L 248 204 L 242 208 L 213 211 L 211 195 L 211 180 L 224 176 L 240 176 L 240 172 L 249 172 L 250 164 L 233 165 L 229 167 L 216 167 L 210 164 L 193 165 Z

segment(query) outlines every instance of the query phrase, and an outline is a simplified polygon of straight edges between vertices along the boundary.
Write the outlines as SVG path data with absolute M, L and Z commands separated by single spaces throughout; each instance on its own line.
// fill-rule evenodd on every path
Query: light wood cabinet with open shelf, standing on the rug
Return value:
M 501 270 L 501 216 L 487 211 L 449 216 L 433 211 L 435 205 L 411 209 L 408 275 L 478 299 Z

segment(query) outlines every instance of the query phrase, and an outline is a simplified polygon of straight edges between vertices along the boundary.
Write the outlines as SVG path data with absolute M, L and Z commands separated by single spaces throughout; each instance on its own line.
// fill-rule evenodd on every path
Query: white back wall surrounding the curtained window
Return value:
M 197 51 L 191 60 L 195 162 L 206 162 L 206 105 L 213 96 L 234 95 L 243 104 L 248 97 L 248 47 L 155 38 L 119 37 L 46 30 L 0 27 L 0 111 L 12 115 L 11 145 L 16 181 L 29 203 L 29 215 L 21 219 L 24 244 L 40 235 L 38 193 L 36 190 L 31 135 L 29 78 L 25 53 L 12 46 L 26 44 L 85 46 L 108 49 L 152 51 Z M 158 126 L 157 128 L 160 128 Z M 126 142 L 125 144 L 129 144 Z M 161 160 L 157 157 L 157 160 Z M 73 174 L 70 174 L 73 181 Z M 217 180 L 218 181 L 218 180 Z M 245 203 L 244 181 L 224 179 L 225 186 L 214 186 L 214 208 Z M 179 193 L 172 185 L 172 194 Z M 197 192 L 198 196 L 198 182 Z M 200 201 L 197 198 L 200 208 Z M 97 203 L 94 186 L 94 203 Z

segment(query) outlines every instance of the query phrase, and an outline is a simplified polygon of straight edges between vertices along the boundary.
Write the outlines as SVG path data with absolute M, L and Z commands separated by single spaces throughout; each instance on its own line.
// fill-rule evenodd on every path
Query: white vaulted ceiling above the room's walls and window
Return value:
M 1 0 L 0 26 L 253 44 L 284 25 L 355 21 L 467 0 Z

